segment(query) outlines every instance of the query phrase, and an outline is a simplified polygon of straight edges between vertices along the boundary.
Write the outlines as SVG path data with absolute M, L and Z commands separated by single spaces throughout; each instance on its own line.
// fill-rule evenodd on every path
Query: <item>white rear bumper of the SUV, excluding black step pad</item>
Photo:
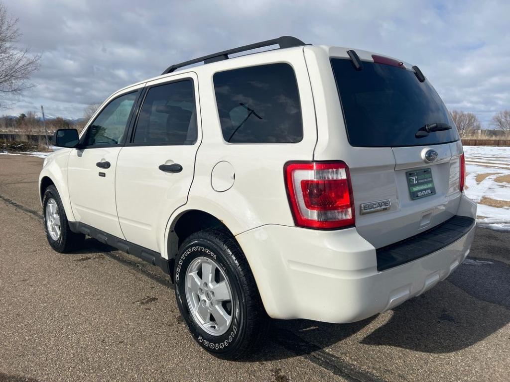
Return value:
M 458 211 L 475 217 L 462 197 Z M 346 323 L 392 309 L 444 280 L 469 253 L 474 226 L 442 249 L 377 270 L 376 250 L 355 228 L 266 225 L 237 236 L 269 316 Z

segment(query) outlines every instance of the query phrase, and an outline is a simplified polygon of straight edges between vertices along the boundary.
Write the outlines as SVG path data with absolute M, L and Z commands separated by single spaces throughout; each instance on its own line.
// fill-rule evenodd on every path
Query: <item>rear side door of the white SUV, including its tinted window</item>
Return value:
M 116 168 L 116 201 L 127 241 L 161 252 L 171 213 L 184 205 L 201 139 L 197 77 L 146 84 L 143 103 Z

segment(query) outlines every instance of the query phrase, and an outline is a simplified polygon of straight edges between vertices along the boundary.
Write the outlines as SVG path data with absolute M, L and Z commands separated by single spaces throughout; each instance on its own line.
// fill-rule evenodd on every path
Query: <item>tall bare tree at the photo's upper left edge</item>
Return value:
M 39 68 L 40 56 L 32 56 L 28 48 L 16 45 L 21 37 L 17 23 L 18 19 L 9 16 L 0 3 L 0 97 L 4 99 L 30 88 L 30 75 Z M 0 99 L 0 109 L 8 106 Z

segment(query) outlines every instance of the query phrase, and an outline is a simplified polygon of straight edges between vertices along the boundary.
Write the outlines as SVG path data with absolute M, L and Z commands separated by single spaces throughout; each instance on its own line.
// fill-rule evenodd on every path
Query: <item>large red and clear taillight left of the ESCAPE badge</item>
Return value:
M 344 162 L 289 162 L 285 183 L 297 226 L 335 229 L 354 225 L 349 168 Z

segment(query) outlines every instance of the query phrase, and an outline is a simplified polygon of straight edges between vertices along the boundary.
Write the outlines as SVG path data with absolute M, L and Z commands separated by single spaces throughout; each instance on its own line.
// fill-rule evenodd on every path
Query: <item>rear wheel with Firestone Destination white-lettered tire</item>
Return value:
M 213 272 L 207 271 L 209 266 L 214 269 Z M 203 287 L 205 280 L 207 284 L 208 275 L 212 275 L 210 283 Z M 248 262 L 230 232 L 213 228 L 190 235 L 181 245 L 175 260 L 174 280 L 181 315 L 189 332 L 203 349 L 215 357 L 236 360 L 258 348 L 267 332 L 269 318 Z M 192 291 L 196 289 L 195 284 L 202 286 L 201 295 L 198 294 L 200 289 Z M 227 300 L 221 301 L 228 295 L 225 285 L 230 287 L 230 307 Z M 212 300 L 209 299 L 210 292 L 213 292 Z M 193 313 L 197 301 L 201 306 L 197 313 Z M 204 307 L 204 302 L 207 307 Z M 230 323 L 225 323 L 229 313 Z M 208 318 L 200 322 L 199 317 Z M 207 321 L 210 325 L 205 324 Z

